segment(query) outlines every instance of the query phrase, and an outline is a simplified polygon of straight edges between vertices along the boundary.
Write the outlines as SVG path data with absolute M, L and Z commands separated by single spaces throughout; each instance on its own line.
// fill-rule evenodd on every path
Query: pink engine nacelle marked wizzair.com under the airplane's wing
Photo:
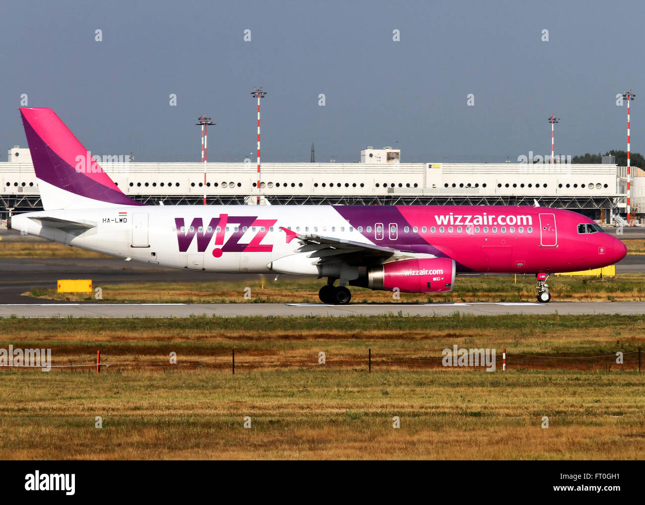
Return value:
M 442 293 L 455 286 L 455 261 L 448 258 L 402 259 L 367 272 L 367 287 L 402 293 Z

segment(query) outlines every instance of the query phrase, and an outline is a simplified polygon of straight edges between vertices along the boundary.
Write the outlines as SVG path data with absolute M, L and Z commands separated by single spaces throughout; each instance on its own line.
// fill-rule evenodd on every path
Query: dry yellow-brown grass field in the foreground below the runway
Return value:
M 510 361 L 630 352 L 643 344 L 642 319 L 0 319 L 0 347 L 49 347 L 54 364 L 92 364 L 101 349 L 112 364 L 99 375 L 0 369 L 0 458 L 642 459 L 645 379 L 633 367 L 502 373 L 378 361 L 453 344 L 506 347 Z M 235 375 L 230 354 L 213 358 L 233 347 Z

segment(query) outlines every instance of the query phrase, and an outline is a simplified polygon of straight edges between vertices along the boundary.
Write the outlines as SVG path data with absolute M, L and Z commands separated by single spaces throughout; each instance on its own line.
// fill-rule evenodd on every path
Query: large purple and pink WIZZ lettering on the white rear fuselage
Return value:
M 210 219 L 207 226 L 204 226 L 201 217 L 195 217 L 190 226 L 185 226 L 183 217 L 175 217 L 179 252 L 188 251 L 194 240 L 197 241 L 197 252 L 206 252 L 213 241 L 213 235 L 216 246 L 213 250 L 215 257 L 221 256 L 224 252 L 272 252 L 272 244 L 261 244 L 261 242 L 276 221 L 277 219 L 257 219 L 257 216 L 220 214 L 219 217 Z M 234 230 L 228 239 L 226 239 L 226 226 Z M 248 232 L 253 233 L 251 241 L 246 244 L 240 243 L 240 239 Z

